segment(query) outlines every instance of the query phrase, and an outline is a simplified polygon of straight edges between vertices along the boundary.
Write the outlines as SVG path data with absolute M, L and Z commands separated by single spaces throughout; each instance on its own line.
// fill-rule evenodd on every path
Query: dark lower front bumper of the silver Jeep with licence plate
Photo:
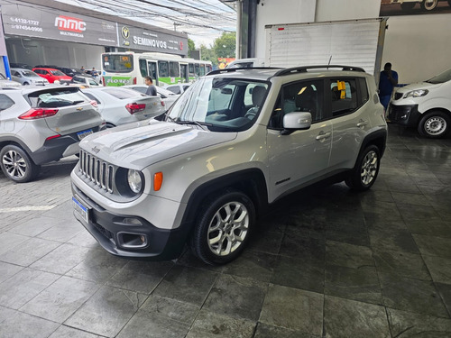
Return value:
M 78 222 L 109 253 L 136 260 L 172 260 L 183 251 L 189 234 L 188 224 L 171 230 L 157 228 L 143 217 L 108 212 L 73 183 L 72 193 L 88 210 L 87 220 L 74 211 Z

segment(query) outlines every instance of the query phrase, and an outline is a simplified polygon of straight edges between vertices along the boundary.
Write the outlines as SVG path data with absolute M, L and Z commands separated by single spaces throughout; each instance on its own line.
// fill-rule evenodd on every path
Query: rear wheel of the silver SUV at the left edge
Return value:
M 6 145 L 0 151 L 0 166 L 7 178 L 17 183 L 29 182 L 39 174 L 40 166 L 34 164 L 22 148 Z

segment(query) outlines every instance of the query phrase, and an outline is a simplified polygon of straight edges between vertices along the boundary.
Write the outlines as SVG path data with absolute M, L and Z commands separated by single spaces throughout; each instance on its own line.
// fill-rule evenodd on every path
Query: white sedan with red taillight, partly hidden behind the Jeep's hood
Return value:
M 107 128 L 148 119 L 165 111 L 159 96 L 146 96 L 133 89 L 91 87 L 81 90 L 97 102 Z

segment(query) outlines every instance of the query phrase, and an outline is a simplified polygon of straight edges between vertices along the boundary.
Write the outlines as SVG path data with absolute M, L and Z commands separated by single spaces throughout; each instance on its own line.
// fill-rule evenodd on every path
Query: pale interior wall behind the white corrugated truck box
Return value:
M 379 17 L 380 0 L 261 0 L 256 57 L 265 57 L 266 24 L 311 23 Z M 400 83 L 431 78 L 451 67 L 451 14 L 391 16 L 382 65 L 391 62 Z

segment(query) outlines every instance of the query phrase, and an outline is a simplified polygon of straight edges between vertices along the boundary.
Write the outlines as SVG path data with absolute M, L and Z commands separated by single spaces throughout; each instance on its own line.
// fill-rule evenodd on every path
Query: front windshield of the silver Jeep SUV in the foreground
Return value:
M 243 78 L 199 79 L 169 112 L 176 123 L 203 124 L 216 132 L 250 128 L 264 103 L 269 83 Z

